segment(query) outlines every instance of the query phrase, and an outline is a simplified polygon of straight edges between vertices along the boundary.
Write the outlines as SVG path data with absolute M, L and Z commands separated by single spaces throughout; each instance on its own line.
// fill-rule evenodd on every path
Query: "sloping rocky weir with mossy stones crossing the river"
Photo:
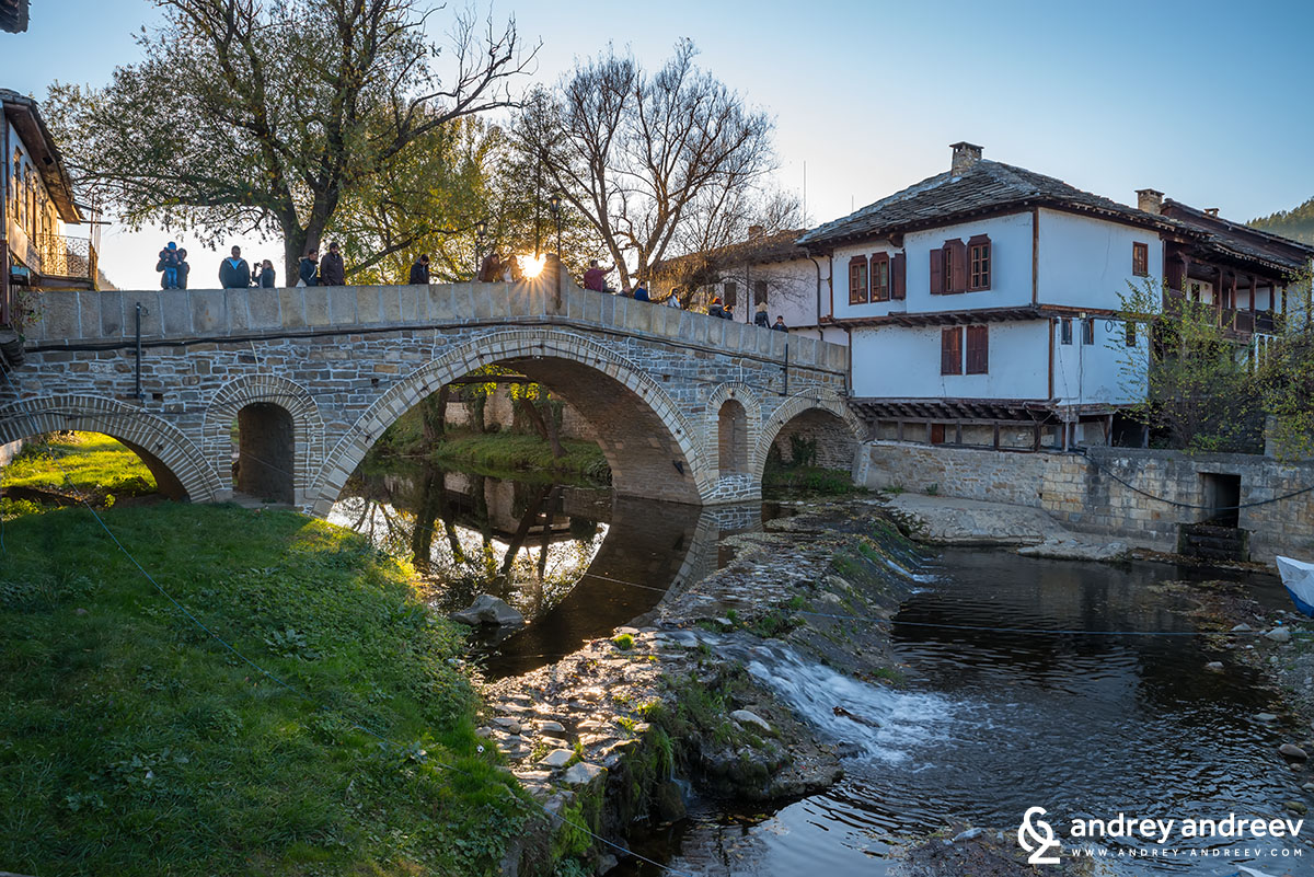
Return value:
M 728 538 L 735 557 L 723 570 L 669 593 L 635 626 L 486 687 L 480 734 L 547 814 L 503 873 L 528 873 L 544 847 L 604 873 L 636 822 L 678 819 L 690 796 L 791 798 L 842 775 L 842 742 L 817 742 L 748 671 L 750 655 L 770 642 L 896 684 L 882 622 L 918 558 L 874 502 L 791 511 Z

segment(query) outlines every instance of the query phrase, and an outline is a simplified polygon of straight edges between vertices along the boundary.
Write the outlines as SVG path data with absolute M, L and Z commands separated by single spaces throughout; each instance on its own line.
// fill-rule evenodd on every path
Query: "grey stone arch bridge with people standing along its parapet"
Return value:
M 619 495 L 756 499 L 771 445 L 800 433 L 817 440 L 819 462 L 865 478 L 863 429 L 844 403 L 846 348 L 569 281 L 54 291 L 41 302 L 24 362 L 0 381 L 0 444 L 106 433 L 179 499 L 251 492 L 327 515 L 397 417 L 485 365 L 573 404 Z

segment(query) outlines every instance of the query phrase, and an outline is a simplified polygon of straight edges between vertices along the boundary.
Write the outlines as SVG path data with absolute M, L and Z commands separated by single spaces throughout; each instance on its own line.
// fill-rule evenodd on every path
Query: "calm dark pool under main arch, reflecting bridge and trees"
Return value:
M 761 521 L 758 503 L 699 508 L 432 466 L 357 473 L 331 519 L 364 529 L 376 513 L 390 528 L 376 541 L 403 544 L 417 567 L 442 579 L 442 605 L 486 591 L 531 620 L 489 658 L 494 676 L 539 667 L 650 612 L 716 568 L 723 533 Z

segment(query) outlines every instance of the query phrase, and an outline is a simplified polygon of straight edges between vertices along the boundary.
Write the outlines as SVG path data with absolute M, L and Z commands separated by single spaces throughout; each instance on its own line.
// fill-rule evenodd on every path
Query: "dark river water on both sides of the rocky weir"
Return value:
M 438 483 L 442 513 L 428 526 L 440 538 L 431 542 L 417 541 L 405 521 L 423 530 L 426 508 L 439 507 L 432 470 L 353 479 L 355 496 L 344 495 L 335 520 L 402 545 L 449 583 L 452 604 L 490 589 L 480 576 L 491 570 L 493 592 L 533 620 L 510 639 L 484 643 L 493 676 L 551 663 L 641 616 L 668 588 L 724 563 L 717 538 L 762 516 L 758 507 L 714 513 L 616 504 L 602 490 L 455 473 Z M 485 499 L 472 499 L 480 491 Z M 384 517 L 402 524 L 380 538 Z M 426 557 L 406 550 L 417 546 L 428 549 Z M 499 578 L 509 553 L 515 559 Z M 774 811 L 703 803 L 690 819 L 637 838 L 635 848 L 710 877 L 869 877 L 897 873 L 891 852 L 900 839 L 949 823 L 1005 830 L 1013 843 L 1031 806 L 1047 810 L 1071 851 L 1087 845 L 1062 836 L 1076 818 L 1273 819 L 1292 817 L 1285 801 L 1309 800 L 1300 788 L 1306 772 L 1277 755 L 1309 730 L 1255 718 L 1280 710 L 1254 671 L 1189 635 L 1188 601 L 1158 587 L 1185 576 L 1176 567 L 951 549 L 928 555 L 917 572 L 892 628 L 907 677 L 899 689 L 854 681 L 778 646 L 745 655 L 820 738 L 844 747 L 845 780 Z M 1247 587 L 1282 604 L 1273 579 L 1252 576 Z M 1210 660 L 1227 671 L 1205 671 Z M 836 705 L 874 721 L 836 716 Z M 1301 836 L 1314 838 L 1314 828 Z M 1244 874 L 1239 863 L 1260 873 L 1314 874 L 1314 845 L 1301 838 L 1175 836 L 1166 847 L 1105 838 L 1089 845 L 1104 856 L 1097 873 L 1222 877 Z M 1164 848 L 1176 852 L 1144 856 Z M 662 872 L 623 865 L 615 873 Z

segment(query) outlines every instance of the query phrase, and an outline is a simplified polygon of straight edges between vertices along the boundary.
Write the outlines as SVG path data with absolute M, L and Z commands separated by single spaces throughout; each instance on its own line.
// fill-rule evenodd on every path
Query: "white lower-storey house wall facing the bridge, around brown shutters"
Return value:
M 1049 398 L 1047 320 L 991 323 L 988 374 L 941 374 L 940 328 L 882 326 L 853 330 L 853 395 L 901 399 Z

